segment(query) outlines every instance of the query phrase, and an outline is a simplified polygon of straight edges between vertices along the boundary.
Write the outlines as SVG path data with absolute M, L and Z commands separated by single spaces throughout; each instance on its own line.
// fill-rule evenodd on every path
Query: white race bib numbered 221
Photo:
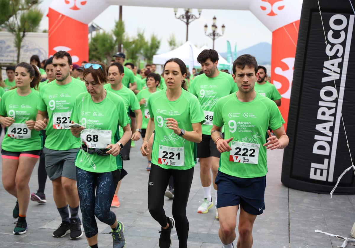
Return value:
M 184 166 L 184 147 L 170 147 L 159 145 L 158 164 Z

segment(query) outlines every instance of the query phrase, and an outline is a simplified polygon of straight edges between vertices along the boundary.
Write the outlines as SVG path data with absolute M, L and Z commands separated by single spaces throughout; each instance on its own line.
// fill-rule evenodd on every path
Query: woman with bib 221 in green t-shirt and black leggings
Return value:
M 165 216 L 164 192 L 170 176 L 174 179 L 173 216 L 179 247 L 187 247 L 189 221 L 186 205 L 192 183 L 193 167 L 196 164 L 196 144 L 201 142 L 201 123 L 205 122 L 200 104 L 195 96 L 182 89 L 187 69 L 179 58 L 172 58 L 164 64 L 166 90 L 149 96 L 150 119 L 141 152 L 148 156 L 148 139 L 154 134 L 152 167 L 148 184 L 148 209 L 159 222 L 159 246 L 171 247 L 170 232 L 174 220 Z

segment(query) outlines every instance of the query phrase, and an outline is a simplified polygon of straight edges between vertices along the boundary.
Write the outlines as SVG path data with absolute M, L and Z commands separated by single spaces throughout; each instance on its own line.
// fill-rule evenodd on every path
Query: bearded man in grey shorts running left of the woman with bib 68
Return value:
M 70 233 L 70 239 L 76 239 L 83 235 L 78 215 L 75 170 L 80 139 L 71 135 L 69 124 L 74 101 L 86 88 L 82 81 L 70 77 L 73 65 L 69 53 L 56 52 L 52 66 L 55 80 L 39 89 L 40 100 L 34 129 L 40 131 L 47 128 L 43 148 L 45 169 L 52 181 L 54 202 L 62 219 L 53 237 L 60 238 Z

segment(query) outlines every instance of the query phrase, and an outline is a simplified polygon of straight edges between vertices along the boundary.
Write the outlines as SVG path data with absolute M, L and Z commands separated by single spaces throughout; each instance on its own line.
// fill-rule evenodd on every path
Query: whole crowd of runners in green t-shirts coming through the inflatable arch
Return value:
M 120 205 L 123 160 L 142 139 L 147 160 L 141 159 L 141 168 L 149 171 L 148 210 L 161 227 L 159 247 L 171 247 L 174 227 L 179 247 L 187 247 L 186 208 L 197 159 L 203 201 L 196 211 L 215 211 L 222 247 L 234 247 L 237 223 L 236 247 L 252 247 L 253 223 L 265 209 L 266 151 L 288 145 L 281 96 L 267 81 L 267 69 L 245 54 L 234 61 L 232 74 L 219 71 L 215 50 L 198 55 L 201 72 L 192 74 L 179 58 L 166 61 L 160 75 L 155 64 L 138 69 L 122 52 L 113 57 L 109 66 L 78 66 L 65 51 L 42 63 L 34 55 L 0 78 L 2 184 L 16 198 L 13 234 L 27 232 L 30 199 L 47 202 L 49 177 L 62 220 L 53 237 L 85 234 L 96 248 L 96 217 L 111 227 L 113 247 L 125 247 L 124 223 L 110 208 Z M 30 193 L 38 160 L 38 191 Z M 172 216 L 164 212 L 164 196 L 173 199 Z

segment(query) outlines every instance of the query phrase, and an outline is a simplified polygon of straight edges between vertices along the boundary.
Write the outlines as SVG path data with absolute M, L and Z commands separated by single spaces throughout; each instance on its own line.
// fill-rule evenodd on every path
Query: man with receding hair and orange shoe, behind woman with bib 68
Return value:
M 132 128 L 132 137 L 131 140 L 139 140 L 141 138 L 141 132 L 142 132 L 142 111 L 141 107 L 139 106 L 138 100 L 136 95 L 133 93 L 132 90 L 128 89 L 126 86 L 122 85 L 122 79 L 125 77 L 124 74 L 124 67 L 120 63 L 112 63 L 109 66 L 108 69 L 108 80 L 109 84 L 105 84 L 104 88 L 107 91 L 111 91 L 115 93 L 116 95 L 119 95 L 122 97 L 126 111 L 127 113 L 129 112 L 129 109 L 134 111 L 134 114 L 137 119 L 137 125 L 136 129 Z M 122 136 L 123 130 L 120 129 L 120 135 Z M 131 151 L 131 143 L 127 142 L 126 145 L 123 147 L 121 151 L 121 155 L 123 160 L 129 160 L 130 159 L 130 151 Z M 116 188 L 116 193 L 114 195 L 113 201 L 112 201 L 112 206 L 113 207 L 119 207 L 120 202 L 119 198 L 117 196 L 119 188 L 121 186 L 121 181 L 118 183 L 118 186 Z

